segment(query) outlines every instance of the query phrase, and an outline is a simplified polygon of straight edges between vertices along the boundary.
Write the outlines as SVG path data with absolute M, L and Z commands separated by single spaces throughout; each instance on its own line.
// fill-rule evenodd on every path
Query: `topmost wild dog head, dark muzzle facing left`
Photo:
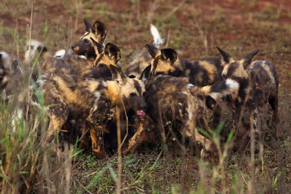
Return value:
M 78 43 L 71 46 L 71 49 L 77 55 L 85 55 L 87 58 L 96 57 L 94 44 L 91 38 L 94 38 L 99 44 L 102 44 L 106 38 L 107 28 L 100 22 L 96 21 L 93 26 L 84 19 L 85 34 L 81 36 Z

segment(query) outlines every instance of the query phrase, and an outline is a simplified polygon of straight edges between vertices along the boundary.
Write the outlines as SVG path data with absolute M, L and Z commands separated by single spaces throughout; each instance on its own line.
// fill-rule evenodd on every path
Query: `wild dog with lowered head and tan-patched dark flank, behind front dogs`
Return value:
M 220 74 L 223 67 L 219 57 L 204 58 L 191 63 L 177 59 L 174 49 L 159 50 L 153 45 L 146 45 L 146 49 L 153 58 L 151 74 L 186 77 L 190 83 L 200 87 L 222 80 Z M 212 126 L 216 128 L 222 117 L 222 109 L 212 97 L 207 97 L 206 105 L 213 112 Z

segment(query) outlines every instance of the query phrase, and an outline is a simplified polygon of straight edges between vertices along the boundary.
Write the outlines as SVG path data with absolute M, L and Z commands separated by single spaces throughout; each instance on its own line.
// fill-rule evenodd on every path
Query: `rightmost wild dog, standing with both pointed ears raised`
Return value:
M 222 78 L 231 78 L 240 83 L 239 96 L 234 101 L 236 110 L 233 112 L 233 119 L 235 125 L 241 128 L 240 130 L 244 134 L 243 127 L 239 125 L 239 119 L 242 105 L 247 100 L 246 106 L 254 119 L 255 145 L 256 148 L 259 148 L 257 142 L 259 139 L 258 116 L 263 104 L 269 102 L 273 110 L 273 125 L 276 129 L 276 137 L 278 138 L 281 135 L 278 114 L 279 78 L 275 66 L 268 61 L 253 62 L 259 49 L 255 49 L 240 61 L 234 61 L 225 51 L 218 47 L 217 49 L 221 54 L 221 63 L 224 66 L 221 74 Z

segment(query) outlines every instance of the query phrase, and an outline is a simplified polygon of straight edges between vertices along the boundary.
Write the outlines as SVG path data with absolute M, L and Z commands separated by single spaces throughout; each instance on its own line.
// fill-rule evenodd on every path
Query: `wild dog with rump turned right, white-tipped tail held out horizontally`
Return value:
M 146 70 L 149 71 L 151 65 L 146 67 Z M 203 157 L 205 151 L 213 149 L 210 140 L 199 134 L 196 129 L 196 120 L 203 118 L 204 97 L 210 96 L 218 100 L 226 95 L 231 95 L 235 98 L 238 90 L 239 84 L 230 79 L 200 88 L 189 83 L 184 78 L 149 73 L 149 79 L 146 83 L 146 112 L 154 121 L 149 124 L 156 123 L 158 129 L 162 129 L 164 125 L 169 125 L 175 120 L 176 123 L 182 126 L 179 129 L 180 133 L 185 132 L 186 136 L 193 142 L 196 141 L 203 145 L 204 148 L 201 151 L 201 156 Z M 148 125 L 148 120 L 146 120 L 146 125 Z M 137 147 L 136 144 L 144 142 L 147 134 L 155 130 L 152 128 L 155 128 L 155 126 L 146 126 L 144 129 L 141 127 L 136 136 L 129 141 L 129 147 L 124 153 L 134 151 Z M 163 139 L 163 143 L 165 143 L 165 139 Z

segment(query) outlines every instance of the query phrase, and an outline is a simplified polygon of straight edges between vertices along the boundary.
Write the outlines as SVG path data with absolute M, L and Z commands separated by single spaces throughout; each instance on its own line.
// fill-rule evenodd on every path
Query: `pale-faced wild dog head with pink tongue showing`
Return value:
M 149 74 L 150 65 L 146 67 L 139 79 L 128 78 L 114 65 L 110 65 L 110 70 L 112 73 L 112 80 L 119 88 L 118 93 L 123 102 L 127 103 L 127 105 L 136 111 L 137 115 L 140 117 L 144 116 L 146 114 L 146 89 L 143 80 L 147 79 L 146 77 Z

